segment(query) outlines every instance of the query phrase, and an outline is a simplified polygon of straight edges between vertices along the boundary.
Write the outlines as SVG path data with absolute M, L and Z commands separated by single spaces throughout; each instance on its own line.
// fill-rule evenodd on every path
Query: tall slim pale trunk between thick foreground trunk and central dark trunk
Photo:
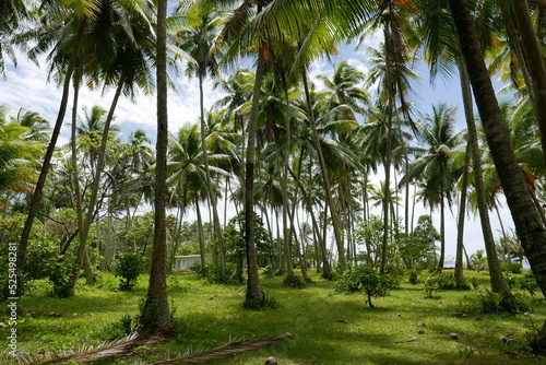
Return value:
M 199 106 L 201 109 L 201 149 L 203 150 L 203 162 L 205 165 L 206 186 L 209 188 L 209 199 L 212 204 L 212 216 L 214 224 L 214 234 L 219 248 L 219 272 L 222 279 L 226 275 L 226 250 L 224 248 L 224 237 L 222 236 L 222 226 L 219 224 L 217 198 L 213 189 L 211 169 L 209 168 L 209 151 L 206 150 L 205 116 L 203 105 L 203 74 L 199 74 Z M 203 267 L 204 269 L 204 267 Z

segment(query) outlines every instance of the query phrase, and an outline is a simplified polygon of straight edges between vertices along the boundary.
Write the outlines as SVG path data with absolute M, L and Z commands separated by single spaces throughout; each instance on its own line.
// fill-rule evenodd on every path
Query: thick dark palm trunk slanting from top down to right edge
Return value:
M 484 55 L 467 3 L 464 0 L 450 0 L 449 3 L 487 143 L 502 184 L 515 229 L 538 285 L 546 294 L 546 245 L 544 245 L 546 229 L 515 158 L 491 80 L 487 73 Z M 487 256 L 489 258 L 489 252 Z M 542 338 L 543 344 L 546 344 L 546 323 L 543 327 Z

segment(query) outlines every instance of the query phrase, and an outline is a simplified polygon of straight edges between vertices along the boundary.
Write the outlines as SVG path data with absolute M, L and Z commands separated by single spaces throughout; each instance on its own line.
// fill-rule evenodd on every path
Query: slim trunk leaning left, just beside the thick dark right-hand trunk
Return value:
M 505 280 L 505 276 L 502 275 L 502 270 L 500 268 L 500 262 L 497 256 L 497 249 L 495 247 L 495 238 L 492 236 L 491 224 L 489 221 L 489 212 L 487 210 L 482 162 L 479 160 L 479 148 L 477 143 L 477 130 L 472 108 L 472 92 L 470 87 L 468 73 L 466 71 L 466 68 L 462 63 L 459 63 L 459 70 L 460 70 L 459 73 L 461 75 L 461 89 L 463 92 L 463 103 L 465 109 L 466 125 L 468 128 L 468 143 L 471 146 L 471 154 L 473 161 L 474 187 L 476 189 L 476 195 L 477 195 L 479 219 L 482 222 L 482 232 L 484 235 L 484 244 L 487 252 L 487 264 L 489 267 L 489 276 L 491 280 L 491 290 L 494 292 L 505 293 L 507 298 L 510 298 L 509 305 L 513 307 L 511 309 L 515 309 L 518 304 L 514 296 L 510 292 L 510 289 L 508 287 L 508 283 Z

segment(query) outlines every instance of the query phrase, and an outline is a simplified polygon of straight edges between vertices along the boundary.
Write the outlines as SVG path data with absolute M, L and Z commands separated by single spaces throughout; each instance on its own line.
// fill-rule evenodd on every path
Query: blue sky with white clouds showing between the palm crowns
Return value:
M 365 46 L 377 47 L 381 42 L 379 33 L 371 35 Z M 314 63 L 310 68 L 311 80 L 314 80 L 319 87 L 320 82 L 317 81 L 318 74 L 332 75 L 332 64 L 341 60 L 347 60 L 349 64 L 358 70 L 367 73 L 368 66 L 366 63 L 367 55 L 366 47 L 359 50 L 354 50 L 353 47 L 343 47 L 337 56 L 333 56 L 330 60 L 324 58 Z M 22 55 L 17 57 L 17 66 L 7 59 L 7 78 L 0 78 L 0 104 L 5 104 L 11 109 L 11 115 L 15 115 L 19 108 L 25 108 L 32 111 L 39 113 L 41 117 L 48 120 L 51 125 L 57 118 L 59 109 L 61 89 L 54 82 L 47 81 L 48 69 L 46 62 L 41 62 L 40 67 L 29 62 Z M 418 92 L 418 97 L 414 98 L 415 110 L 418 113 L 430 113 L 431 105 L 439 102 L 447 102 L 459 108 L 456 129 L 465 127 L 461 87 L 456 74 L 453 79 L 438 79 L 435 85 L 431 85 L 428 79 L 428 70 L 423 63 L 416 64 L 415 71 L 420 75 L 422 81 L 415 87 Z M 199 84 L 197 79 L 188 80 L 182 73 L 180 75 L 171 74 L 178 89 L 169 90 L 168 95 L 168 113 L 169 113 L 169 131 L 176 133 L 177 130 L 186 122 L 197 122 L 199 116 Z M 218 90 L 213 90 L 213 82 L 206 80 L 204 83 L 204 105 L 210 108 L 223 94 Z M 91 108 L 94 105 L 99 105 L 105 109 L 109 108 L 112 98 L 112 91 L 102 93 L 100 91 L 82 90 L 80 96 L 80 107 L 86 106 Z M 69 104 L 70 108 L 70 104 Z M 115 123 L 121 130 L 122 137 L 129 136 L 135 129 L 143 129 L 147 136 L 155 141 L 156 133 L 156 108 L 155 96 L 138 94 L 134 101 L 121 98 L 116 109 Z M 80 115 L 81 109 L 80 109 Z M 67 110 L 64 126 L 59 138 L 58 146 L 68 143 L 69 141 L 69 118 L 70 109 Z M 382 179 L 381 174 L 373 176 L 372 181 L 376 184 Z M 224 202 L 219 201 L 218 209 L 223 211 Z M 403 208 L 401 208 L 401 212 Z M 228 215 L 234 215 L 235 211 L 232 207 L 228 209 Z M 376 212 L 378 215 L 380 212 Z M 420 214 L 428 214 L 429 210 L 424 207 L 418 207 L 415 213 L 415 220 Z M 451 212 L 446 214 L 446 232 L 447 232 L 447 261 L 454 258 L 456 245 L 456 214 L 458 207 L 452 207 Z M 507 228 L 513 226 L 509 210 L 506 203 L 502 203 L 500 214 L 503 217 L 503 224 Z M 194 220 L 194 215 L 189 213 L 186 217 L 189 221 Z M 491 213 L 490 216 L 494 235 L 500 235 L 499 221 Z M 439 231 L 439 212 L 434 212 L 434 222 Z M 477 216 L 468 216 L 466 221 L 464 243 L 468 255 L 478 249 L 484 248 L 480 224 Z

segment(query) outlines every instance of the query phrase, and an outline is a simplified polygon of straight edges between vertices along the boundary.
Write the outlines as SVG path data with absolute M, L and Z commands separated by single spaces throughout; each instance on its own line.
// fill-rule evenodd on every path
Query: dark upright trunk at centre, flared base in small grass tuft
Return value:
M 261 7 L 258 7 L 258 12 Z M 262 47 L 264 45 L 262 44 Z M 248 142 L 246 156 L 246 179 L 245 179 L 245 244 L 247 246 L 247 308 L 260 308 L 265 304 L 265 294 L 261 290 L 260 276 L 258 273 L 258 259 L 254 240 L 254 153 L 256 153 L 256 130 L 258 123 L 258 113 L 260 108 L 260 90 L 262 79 L 265 74 L 264 49 L 258 52 L 258 66 L 256 69 L 254 89 L 252 93 L 252 108 L 248 122 Z

